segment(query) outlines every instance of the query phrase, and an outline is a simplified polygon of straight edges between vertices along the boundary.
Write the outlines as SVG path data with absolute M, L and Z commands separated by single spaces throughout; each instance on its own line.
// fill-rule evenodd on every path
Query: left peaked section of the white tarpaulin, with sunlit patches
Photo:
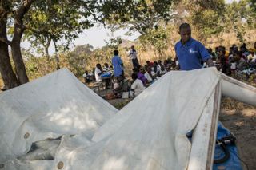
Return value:
M 7 90 L 0 95 L 0 164 L 26 154 L 34 141 L 80 132 L 91 138 L 117 111 L 67 69 Z

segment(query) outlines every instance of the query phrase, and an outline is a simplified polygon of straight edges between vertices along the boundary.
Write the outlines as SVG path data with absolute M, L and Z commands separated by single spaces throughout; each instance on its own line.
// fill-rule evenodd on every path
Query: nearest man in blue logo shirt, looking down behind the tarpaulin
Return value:
M 181 40 L 175 45 L 176 57 L 178 58 L 178 69 L 192 70 L 201 69 L 202 63 L 206 62 L 209 67 L 214 66 L 210 53 L 201 42 L 191 38 L 191 27 L 187 23 L 179 26 L 178 34 Z

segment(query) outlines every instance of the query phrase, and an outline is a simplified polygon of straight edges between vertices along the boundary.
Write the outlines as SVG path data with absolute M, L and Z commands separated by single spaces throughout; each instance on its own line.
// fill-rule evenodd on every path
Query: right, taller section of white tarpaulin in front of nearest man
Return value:
M 90 143 L 75 146 L 75 140 L 63 138 L 54 164 L 63 162 L 63 169 L 186 169 L 191 145 L 186 133 L 197 124 L 219 79 L 216 69 L 167 73 L 98 128 Z

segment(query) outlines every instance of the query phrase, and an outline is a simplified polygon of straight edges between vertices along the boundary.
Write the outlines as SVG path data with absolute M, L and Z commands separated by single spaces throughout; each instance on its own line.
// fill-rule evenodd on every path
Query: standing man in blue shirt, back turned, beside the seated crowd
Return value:
M 114 50 L 114 57 L 112 58 L 112 65 L 114 67 L 114 77 L 124 76 L 123 64 L 121 58 L 118 56 L 118 50 Z

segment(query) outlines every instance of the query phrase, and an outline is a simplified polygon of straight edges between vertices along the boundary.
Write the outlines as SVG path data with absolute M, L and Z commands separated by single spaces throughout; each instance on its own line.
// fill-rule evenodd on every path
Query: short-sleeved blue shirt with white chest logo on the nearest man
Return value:
M 190 38 L 188 42 L 182 45 L 179 41 L 175 45 L 176 56 L 181 70 L 201 69 L 201 61 L 210 58 L 210 54 L 201 42 Z

